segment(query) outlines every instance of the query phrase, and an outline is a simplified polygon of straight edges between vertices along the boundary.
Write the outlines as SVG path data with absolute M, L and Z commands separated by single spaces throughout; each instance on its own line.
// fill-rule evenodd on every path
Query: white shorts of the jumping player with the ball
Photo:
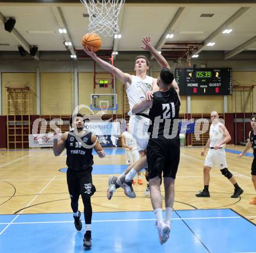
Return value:
M 138 151 L 145 150 L 150 136 L 148 135 L 150 119 L 139 115 L 131 115 L 129 121 L 129 131 L 136 139 Z

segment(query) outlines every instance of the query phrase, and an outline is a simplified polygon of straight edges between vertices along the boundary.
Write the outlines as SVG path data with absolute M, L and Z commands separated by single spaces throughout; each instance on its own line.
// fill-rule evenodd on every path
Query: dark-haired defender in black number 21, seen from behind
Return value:
M 151 125 L 148 128 L 150 140 L 147 146 L 148 178 L 150 179 L 150 197 L 157 216 L 159 241 L 166 243 L 170 234 L 170 218 L 175 195 L 175 177 L 180 160 L 180 139 L 178 133 L 180 97 L 179 88 L 172 86 L 174 76 L 169 68 L 163 68 L 159 74 L 159 91 L 152 100 L 143 100 L 133 106 L 133 113 L 139 113 L 150 107 Z M 165 186 L 166 216 L 163 222 L 161 180 Z

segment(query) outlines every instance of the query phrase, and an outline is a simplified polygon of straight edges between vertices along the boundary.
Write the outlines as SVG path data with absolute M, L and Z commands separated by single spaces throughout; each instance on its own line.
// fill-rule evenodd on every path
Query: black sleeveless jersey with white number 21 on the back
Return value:
M 174 88 L 166 92 L 155 92 L 149 117 L 151 125 L 148 128 L 151 138 L 158 136 L 178 135 L 180 99 Z

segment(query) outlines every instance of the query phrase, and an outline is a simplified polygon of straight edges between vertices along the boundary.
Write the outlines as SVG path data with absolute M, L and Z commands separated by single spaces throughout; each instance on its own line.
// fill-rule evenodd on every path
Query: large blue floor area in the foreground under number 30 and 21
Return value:
M 92 252 L 255 252 L 256 226 L 232 209 L 173 212 L 171 237 L 158 242 L 153 212 L 97 212 Z M 84 252 L 84 223 L 72 214 L 0 215 L 0 252 Z

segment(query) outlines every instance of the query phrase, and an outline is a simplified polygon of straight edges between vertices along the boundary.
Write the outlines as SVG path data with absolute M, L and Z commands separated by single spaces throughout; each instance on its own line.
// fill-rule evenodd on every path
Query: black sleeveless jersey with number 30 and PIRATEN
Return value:
M 70 131 L 66 139 L 66 150 L 67 150 L 67 168 L 74 171 L 87 171 L 91 173 L 93 170 L 93 147 L 86 148 L 82 144 L 92 145 L 91 142 L 91 132 L 87 132 L 85 135 L 81 136 L 80 139 L 83 143 L 77 141 L 76 136 Z

